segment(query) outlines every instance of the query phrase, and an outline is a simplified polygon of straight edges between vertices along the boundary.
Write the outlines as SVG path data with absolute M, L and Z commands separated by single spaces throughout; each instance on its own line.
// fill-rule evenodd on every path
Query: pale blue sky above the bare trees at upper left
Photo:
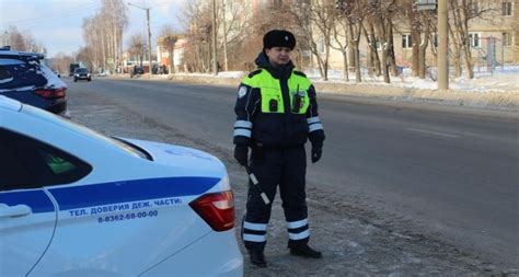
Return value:
M 123 0 L 125 3 L 150 8 L 152 42 L 165 24 L 180 28 L 178 16 L 188 0 Z M 127 7 L 128 28 L 124 44 L 135 33 L 147 37 L 146 11 Z M 47 48 L 47 56 L 59 51 L 72 54 L 84 46 L 81 28 L 84 18 L 101 9 L 101 0 L 0 0 L 0 37 L 8 26 L 31 32 Z M 3 44 L 3 42 L 0 42 Z

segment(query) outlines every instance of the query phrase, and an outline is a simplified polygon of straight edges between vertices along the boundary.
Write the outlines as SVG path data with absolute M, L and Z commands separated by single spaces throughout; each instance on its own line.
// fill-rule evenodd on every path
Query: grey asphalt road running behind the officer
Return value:
M 66 81 L 71 97 L 74 90 L 103 94 L 198 142 L 232 151 L 233 88 Z M 517 113 L 318 96 L 326 141 L 322 161 L 309 165 L 310 192 L 336 203 L 355 200 L 383 215 L 373 220 L 411 220 L 462 250 L 519 264 Z M 309 198 L 320 200 L 311 193 Z

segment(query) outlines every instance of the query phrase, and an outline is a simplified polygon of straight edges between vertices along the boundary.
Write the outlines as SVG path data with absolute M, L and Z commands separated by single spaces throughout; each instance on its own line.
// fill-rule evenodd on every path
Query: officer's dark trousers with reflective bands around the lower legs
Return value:
M 246 215 L 242 228 L 245 247 L 260 251 L 265 249 L 266 229 L 278 185 L 289 234 L 288 246 L 308 243 L 310 231 L 304 192 L 307 174 L 304 146 L 253 148 L 251 171 L 256 175 L 270 204 L 265 205 L 260 192 L 250 182 Z

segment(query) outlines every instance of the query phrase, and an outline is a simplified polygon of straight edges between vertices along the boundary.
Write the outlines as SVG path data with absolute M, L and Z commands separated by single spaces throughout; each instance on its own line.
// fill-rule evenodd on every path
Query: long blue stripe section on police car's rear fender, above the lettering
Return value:
M 215 177 L 168 177 L 131 180 L 83 186 L 56 187 L 49 192 L 59 210 L 70 210 L 116 203 L 199 195 L 215 186 Z

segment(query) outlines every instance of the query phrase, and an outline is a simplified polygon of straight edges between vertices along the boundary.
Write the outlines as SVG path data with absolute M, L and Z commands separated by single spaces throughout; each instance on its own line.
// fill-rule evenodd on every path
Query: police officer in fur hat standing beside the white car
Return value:
M 242 238 L 251 262 L 265 267 L 263 251 L 267 223 L 277 185 L 287 221 L 290 254 L 320 258 L 321 252 L 308 245 L 310 239 L 305 203 L 307 154 L 321 159 L 324 131 L 318 114 L 315 90 L 300 71 L 293 70 L 290 53 L 296 46 L 292 33 L 273 30 L 263 37 L 257 70 L 242 80 L 234 111 L 234 158 L 251 171 L 270 199 L 266 205 L 250 183 Z M 249 149 L 251 159 L 249 160 Z

